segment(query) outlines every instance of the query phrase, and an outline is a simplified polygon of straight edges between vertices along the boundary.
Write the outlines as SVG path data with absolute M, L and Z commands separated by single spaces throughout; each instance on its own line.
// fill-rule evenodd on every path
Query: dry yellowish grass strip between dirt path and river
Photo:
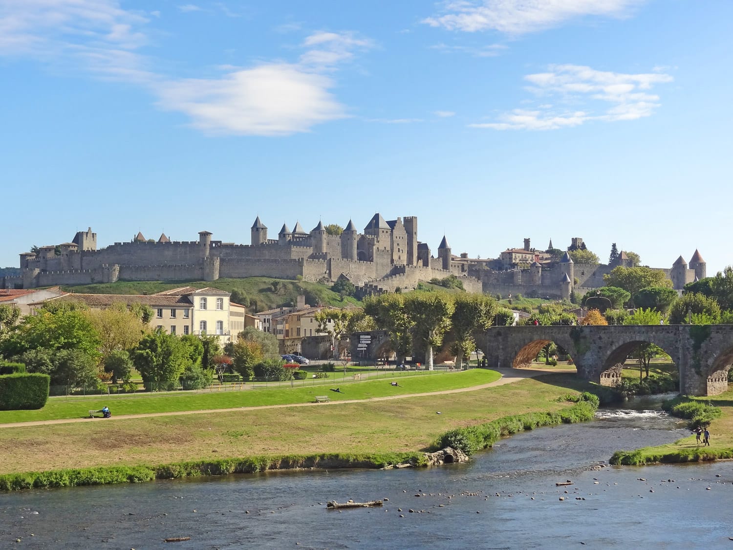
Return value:
M 0 473 L 413 453 L 455 428 L 565 410 L 574 405 L 559 398 L 589 388 L 553 373 L 452 395 L 4 428 Z

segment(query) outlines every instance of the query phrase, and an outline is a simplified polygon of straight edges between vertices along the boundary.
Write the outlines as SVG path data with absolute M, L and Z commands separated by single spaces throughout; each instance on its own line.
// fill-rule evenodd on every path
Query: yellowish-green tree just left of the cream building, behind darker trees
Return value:
M 147 324 L 123 304 L 107 309 L 89 309 L 84 316 L 99 334 L 99 351 L 103 358 L 113 351 L 135 348 L 143 334 L 150 331 Z

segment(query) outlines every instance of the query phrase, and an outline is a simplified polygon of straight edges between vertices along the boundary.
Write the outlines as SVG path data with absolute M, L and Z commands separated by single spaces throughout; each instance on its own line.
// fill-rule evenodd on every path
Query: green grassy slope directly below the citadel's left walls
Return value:
M 118 281 L 97 285 L 62 286 L 62 290 L 89 294 L 155 294 L 177 287 L 215 287 L 232 293 L 232 300 L 259 312 L 295 304 L 299 294 L 306 296 L 306 303 L 345 307 L 361 304 L 356 298 L 331 290 L 331 287 L 315 282 L 272 279 L 270 277 L 249 277 L 247 279 L 217 279 L 216 281 Z M 244 302 L 244 303 L 243 303 Z

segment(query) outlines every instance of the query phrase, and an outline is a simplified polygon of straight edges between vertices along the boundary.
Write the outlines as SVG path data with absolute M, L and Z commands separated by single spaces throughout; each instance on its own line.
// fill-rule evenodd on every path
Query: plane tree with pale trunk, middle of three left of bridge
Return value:
M 405 300 L 416 340 L 424 341 L 427 348 L 427 370 L 433 370 L 432 349 L 443 344 L 443 336 L 451 326 L 453 309 L 450 296 L 441 292 L 411 294 Z

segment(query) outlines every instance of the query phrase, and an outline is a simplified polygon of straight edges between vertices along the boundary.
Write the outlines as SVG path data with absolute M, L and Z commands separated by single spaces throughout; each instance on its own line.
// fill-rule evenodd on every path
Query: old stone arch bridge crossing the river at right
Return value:
M 613 386 L 638 345 L 658 345 L 679 370 L 679 391 L 715 395 L 728 388 L 733 325 L 499 326 L 486 333 L 489 367 L 529 364 L 549 342 L 564 348 L 578 374 Z

